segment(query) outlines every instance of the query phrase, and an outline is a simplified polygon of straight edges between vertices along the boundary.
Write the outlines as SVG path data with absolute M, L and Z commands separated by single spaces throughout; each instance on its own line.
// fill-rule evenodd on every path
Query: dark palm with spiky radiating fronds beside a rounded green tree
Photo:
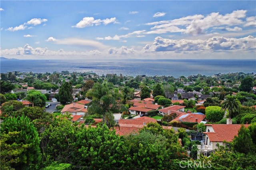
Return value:
M 228 110 L 229 118 L 231 119 L 232 114 L 238 112 L 241 103 L 235 96 L 228 95 L 226 100 L 224 100 L 220 106 L 221 110 Z

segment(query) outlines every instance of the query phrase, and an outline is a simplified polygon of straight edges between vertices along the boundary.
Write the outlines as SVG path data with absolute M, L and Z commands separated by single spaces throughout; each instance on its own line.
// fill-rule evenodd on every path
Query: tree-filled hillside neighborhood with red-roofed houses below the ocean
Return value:
M 105 137 L 110 135 L 104 139 L 109 144 L 114 140 L 119 141 L 112 144 L 115 146 L 114 150 L 122 148 L 120 150 L 125 152 L 133 145 L 135 148 L 138 147 L 138 150 L 130 148 L 126 155 L 129 159 L 135 159 L 132 155 L 140 152 L 139 148 L 142 147 L 140 145 L 146 142 L 149 136 L 155 141 L 147 141 L 149 142 L 147 147 L 153 147 L 156 144 L 154 142 L 161 144 L 158 140 L 164 138 L 161 140 L 167 142 L 167 148 L 170 147 L 171 150 L 174 146 L 178 148 L 177 156 L 169 155 L 171 160 L 190 158 L 196 161 L 211 160 L 215 167 L 221 167 L 214 163 L 216 153 L 241 153 L 247 157 L 256 153 L 256 74 L 254 73 L 239 72 L 213 76 L 198 74 L 174 78 L 146 75 L 132 77 L 122 74 L 99 76 L 92 72 L 15 71 L 1 73 L 0 99 L 1 133 L 9 135 L 6 139 L 1 138 L 1 147 L 5 142 L 10 142 L 9 138 L 16 135 L 10 133 L 23 131 L 19 123 L 15 125 L 15 131 L 8 131 L 8 127 L 13 126 L 11 121 L 28 119 L 26 121 L 30 124 L 29 127 L 32 126 L 31 128 L 34 129 L 33 135 L 37 136 L 37 142 L 40 143 L 38 148 L 42 147 L 41 153 L 38 148 L 35 152 L 38 152 L 38 155 L 49 154 L 57 162 L 69 162 L 66 157 L 73 151 L 78 155 L 82 152 L 89 154 L 90 151 L 87 149 L 85 151 L 84 147 L 87 144 L 91 145 L 89 143 L 93 140 L 102 141 L 103 139 L 98 138 L 101 135 Z M 92 132 L 94 134 L 90 134 Z M 82 137 L 81 133 L 88 136 Z M 90 142 L 81 146 L 78 141 L 82 142 L 85 139 Z M 137 146 L 137 143 L 129 143 L 133 140 L 145 141 L 138 142 Z M 250 145 L 242 144 L 248 141 Z M 42 142 L 45 142 L 44 146 Z M 122 142 L 125 146 L 121 147 L 119 144 Z M 100 142 L 101 144 L 103 143 Z M 97 147 L 91 146 L 90 150 L 93 148 L 97 150 Z M 167 148 L 164 151 L 166 153 Z M 15 150 L 11 146 L 9 149 Z M 145 153 L 150 152 L 148 150 Z M 20 154 L 26 152 L 28 150 L 24 149 Z M 118 150 L 115 152 L 119 154 Z M 100 151 L 98 154 L 101 154 Z M 162 153 L 156 151 L 154 154 L 157 157 Z M 74 154 L 74 157 L 70 155 L 75 162 L 70 163 L 82 167 L 83 163 L 75 159 L 78 155 Z M 115 159 L 123 158 L 118 156 Z M 147 167 L 158 169 L 154 162 L 150 162 L 151 159 L 156 160 L 149 158 L 147 164 L 150 165 Z M 4 161 L 1 164 L 6 164 L 6 167 L 14 165 L 7 157 Z M 129 167 L 142 168 L 145 162 L 144 160 L 141 162 Z M 23 164 L 24 167 L 28 167 L 28 164 Z M 90 164 L 86 166 L 89 167 Z M 120 160 L 117 167 L 124 166 L 127 166 L 126 163 Z M 168 166 L 177 165 L 170 162 L 166 165 Z

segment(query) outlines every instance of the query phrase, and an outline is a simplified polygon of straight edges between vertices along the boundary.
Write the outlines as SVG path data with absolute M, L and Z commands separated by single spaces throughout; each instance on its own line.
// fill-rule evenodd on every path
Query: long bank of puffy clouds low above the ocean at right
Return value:
M 224 38 L 214 36 L 208 40 L 172 40 L 156 37 L 152 46 L 147 44 L 143 50 L 145 52 L 163 51 L 215 51 L 215 50 L 252 50 L 256 49 L 256 38 L 248 36 L 244 38 Z

